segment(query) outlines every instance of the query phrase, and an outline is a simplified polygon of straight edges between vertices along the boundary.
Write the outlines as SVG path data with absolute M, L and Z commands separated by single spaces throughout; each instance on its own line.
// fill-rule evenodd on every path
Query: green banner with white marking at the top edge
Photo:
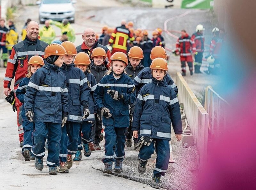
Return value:
M 183 0 L 181 8 L 209 9 L 213 8 L 213 0 Z

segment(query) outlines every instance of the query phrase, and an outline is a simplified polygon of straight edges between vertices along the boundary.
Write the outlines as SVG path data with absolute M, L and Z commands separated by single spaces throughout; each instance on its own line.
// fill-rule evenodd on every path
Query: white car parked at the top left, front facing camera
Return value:
M 43 24 L 45 20 L 62 21 L 68 19 L 70 23 L 75 22 L 75 0 L 41 0 L 39 5 L 39 22 Z

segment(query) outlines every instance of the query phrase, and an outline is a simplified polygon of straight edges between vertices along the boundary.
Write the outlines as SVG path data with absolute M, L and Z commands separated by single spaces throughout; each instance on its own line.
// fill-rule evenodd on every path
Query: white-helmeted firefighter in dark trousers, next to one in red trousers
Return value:
M 196 32 L 191 36 L 192 40 L 195 41 L 196 53 L 195 53 L 195 73 L 202 73 L 200 67 L 202 65 L 203 52 L 204 52 L 204 27 L 201 24 L 196 26 Z

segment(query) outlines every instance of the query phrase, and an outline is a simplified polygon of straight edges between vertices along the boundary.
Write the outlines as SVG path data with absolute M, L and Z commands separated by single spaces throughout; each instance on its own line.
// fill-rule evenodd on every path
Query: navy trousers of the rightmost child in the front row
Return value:
M 139 139 L 139 138 L 138 138 Z M 155 144 L 154 144 L 154 141 Z M 154 176 L 164 176 L 168 169 L 170 158 L 170 146 L 168 140 L 153 139 L 150 146 L 142 146 L 138 158 L 142 161 L 146 161 L 151 158 L 156 150 L 156 168 L 153 171 Z

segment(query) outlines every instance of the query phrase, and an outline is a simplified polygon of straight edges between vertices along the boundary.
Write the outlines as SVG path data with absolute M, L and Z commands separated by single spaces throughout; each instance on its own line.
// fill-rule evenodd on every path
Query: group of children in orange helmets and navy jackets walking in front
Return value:
M 182 134 L 178 90 L 167 73 L 166 57 L 163 47 L 154 47 L 153 61 L 144 68 L 140 64 L 143 51 L 134 46 L 128 57 L 114 53 L 107 70 L 103 48 L 93 49 L 89 57 L 84 52 L 77 54 L 70 41 L 48 45 L 44 60 L 31 57 L 28 74 L 16 91 L 24 102 L 25 160 L 34 156 L 35 168 L 42 170 L 47 140 L 49 174 L 68 173 L 73 161 L 81 161 L 82 150 L 85 157 L 90 156 L 93 125 L 102 122 L 103 173 L 112 173 L 113 162 L 115 172 L 123 171 L 124 147 L 132 146 L 133 136 L 140 152 L 139 173 L 145 173 L 147 160 L 156 151 L 151 186 L 161 188 L 160 177 L 170 157 L 171 123 L 178 140 Z M 96 140 L 95 148 L 101 149 Z

